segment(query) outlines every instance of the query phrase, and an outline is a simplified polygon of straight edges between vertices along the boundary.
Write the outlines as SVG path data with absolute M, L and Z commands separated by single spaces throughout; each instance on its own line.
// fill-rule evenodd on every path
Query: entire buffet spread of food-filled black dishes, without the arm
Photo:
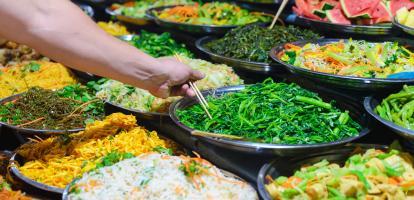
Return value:
M 295 0 L 294 25 L 270 28 L 279 3 L 101 7 L 114 39 L 201 71 L 196 97 L 85 79 L 1 40 L 0 136 L 18 147 L 0 199 L 414 198 L 414 3 Z

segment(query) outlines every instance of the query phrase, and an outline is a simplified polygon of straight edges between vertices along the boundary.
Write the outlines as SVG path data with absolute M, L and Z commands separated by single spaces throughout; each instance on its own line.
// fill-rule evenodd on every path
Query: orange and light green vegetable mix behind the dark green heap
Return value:
M 194 25 L 245 25 L 255 22 L 269 22 L 272 18 L 259 12 L 250 12 L 235 4 L 211 2 L 194 5 L 180 5 L 161 11 L 154 11 L 162 20 Z

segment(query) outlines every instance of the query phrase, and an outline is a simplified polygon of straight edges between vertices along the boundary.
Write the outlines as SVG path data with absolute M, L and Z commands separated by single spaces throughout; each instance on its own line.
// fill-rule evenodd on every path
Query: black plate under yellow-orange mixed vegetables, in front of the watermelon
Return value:
M 326 45 L 333 42 L 338 42 L 341 39 L 320 39 L 316 41 L 316 44 Z M 291 44 L 297 46 L 304 46 L 308 44 L 308 41 L 292 42 Z M 276 55 L 282 52 L 286 44 L 274 47 L 270 51 L 270 57 L 276 62 L 284 65 L 289 71 L 294 74 L 299 74 L 306 78 L 324 83 L 330 86 L 336 86 L 344 89 L 357 90 L 357 91 L 377 91 L 384 89 L 399 88 L 404 84 L 414 83 L 414 79 L 383 79 L 383 78 L 359 78 L 353 76 L 340 76 L 334 74 L 328 74 L 323 72 L 317 72 L 308 70 L 301 67 L 296 67 L 291 64 L 281 61 Z

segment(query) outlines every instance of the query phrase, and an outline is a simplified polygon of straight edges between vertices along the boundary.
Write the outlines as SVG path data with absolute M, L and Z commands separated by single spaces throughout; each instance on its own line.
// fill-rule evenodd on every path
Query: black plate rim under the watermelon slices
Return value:
M 311 26 L 313 29 L 326 32 L 326 33 L 345 33 L 345 34 L 358 34 L 358 35 L 368 35 L 368 36 L 386 36 L 393 34 L 393 28 L 391 23 L 389 25 L 345 25 L 345 24 L 335 24 L 330 22 L 324 22 L 314 19 L 309 19 L 306 17 L 301 17 L 294 15 L 296 20 L 299 23 Z

